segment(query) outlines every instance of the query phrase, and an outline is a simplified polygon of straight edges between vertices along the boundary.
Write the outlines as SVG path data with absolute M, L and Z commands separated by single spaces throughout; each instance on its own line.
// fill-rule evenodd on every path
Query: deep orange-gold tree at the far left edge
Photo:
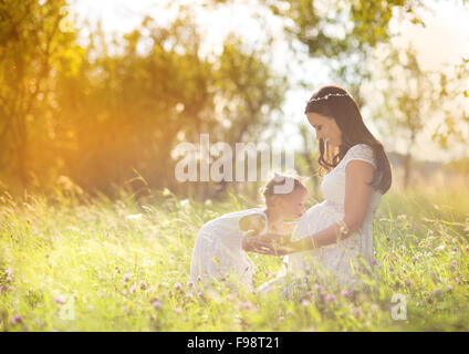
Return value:
M 0 2 L 0 165 L 23 187 L 31 176 L 31 138 L 48 134 L 55 65 L 74 38 L 60 29 L 65 6 L 63 0 Z

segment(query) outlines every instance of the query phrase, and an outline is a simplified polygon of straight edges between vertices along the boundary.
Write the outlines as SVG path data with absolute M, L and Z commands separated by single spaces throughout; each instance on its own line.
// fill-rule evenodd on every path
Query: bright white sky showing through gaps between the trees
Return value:
M 321 66 L 315 61 L 304 64 L 298 63 L 288 49 L 286 41 L 281 35 L 281 23 L 275 19 L 265 18 L 265 23 L 250 17 L 253 12 L 259 13 L 259 8 L 250 6 L 256 0 L 244 0 L 242 4 L 231 7 L 217 13 L 208 13 L 204 7 L 196 7 L 195 19 L 200 23 L 207 49 L 216 49 L 222 43 L 223 37 L 236 31 L 249 41 L 261 41 L 267 31 L 275 33 L 275 55 L 273 66 L 280 72 L 286 72 L 292 81 L 306 77 L 311 83 L 311 90 L 293 88 L 285 93 L 284 114 L 282 121 L 284 128 L 278 135 L 279 144 L 288 144 L 293 148 L 301 147 L 301 138 L 298 135 L 298 123 L 305 123 L 303 114 L 304 103 L 315 87 L 329 83 L 327 67 Z M 201 4 L 202 0 L 180 2 Z M 427 2 L 427 1 L 426 1 Z M 79 18 L 88 19 L 92 23 L 102 21 L 105 32 L 125 33 L 137 27 L 144 15 L 152 15 L 158 23 L 165 24 L 176 15 L 175 9 L 166 6 L 169 0 L 71 0 L 72 12 Z M 411 42 L 419 53 L 419 62 L 426 69 L 438 70 L 442 63 L 458 63 L 461 56 L 469 58 L 469 4 L 462 6 L 462 0 L 434 0 L 431 3 L 432 14 L 424 18 L 426 27 L 397 23 L 402 27 L 403 35 L 397 43 Z M 86 28 L 81 27 L 83 34 Z M 304 56 L 306 59 L 306 56 Z M 306 75 L 305 75 L 306 73 Z M 372 132 L 379 136 L 378 132 L 364 116 Z M 261 138 L 260 138 L 261 140 Z M 427 139 L 428 140 L 428 139 Z M 428 158 L 429 149 L 435 159 L 442 159 L 448 155 L 431 147 L 431 143 L 424 138 L 419 142 L 416 155 L 419 158 Z M 456 152 L 455 152 L 456 154 Z

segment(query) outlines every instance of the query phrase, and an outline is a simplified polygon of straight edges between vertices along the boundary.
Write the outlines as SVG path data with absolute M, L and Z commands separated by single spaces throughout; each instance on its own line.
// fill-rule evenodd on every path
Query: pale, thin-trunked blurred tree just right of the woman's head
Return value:
M 455 122 L 467 119 L 463 111 L 455 110 L 456 87 L 463 85 L 463 76 L 450 74 L 454 80 L 449 83 L 448 74 L 423 70 L 411 45 L 388 45 L 376 62 L 372 111 L 386 138 L 406 144 L 403 184 L 408 187 L 413 152 L 428 126 L 439 123 L 440 128 L 446 127 L 446 135 L 438 129 L 434 134 L 445 147 L 445 136 L 456 135 Z

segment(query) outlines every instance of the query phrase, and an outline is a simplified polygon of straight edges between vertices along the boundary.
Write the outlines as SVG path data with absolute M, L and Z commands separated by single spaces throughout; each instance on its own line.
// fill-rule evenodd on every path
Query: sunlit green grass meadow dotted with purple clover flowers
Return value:
M 117 201 L 86 202 L 66 194 L 27 201 L 6 194 L 0 200 L 0 330 L 469 330 L 467 191 L 386 195 L 374 223 L 377 278 L 367 279 L 369 290 L 353 299 L 332 288 L 323 293 L 334 293 L 335 301 L 323 301 L 314 287 L 301 301 L 278 291 L 234 294 L 223 284 L 218 293 L 189 288 L 198 229 L 249 207 L 236 198 L 194 204 L 167 192 L 145 202 L 126 194 Z M 279 258 L 251 259 L 257 285 L 281 266 Z M 390 316 L 396 293 L 407 296 L 406 321 Z

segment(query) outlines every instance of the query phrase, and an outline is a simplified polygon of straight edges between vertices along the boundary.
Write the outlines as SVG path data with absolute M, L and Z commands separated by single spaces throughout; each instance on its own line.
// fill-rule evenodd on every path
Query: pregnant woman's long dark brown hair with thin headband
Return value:
M 373 149 L 377 167 L 371 185 L 383 195 L 390 188 L 390 165 L 383 144 L 365 126 L 358 106 L 344 88 L 337 85 L 321 87 L 311 96 L 304 113 L 317 113 L 333 118 L 342 132 L 342 144 L 335 155 L 330 150 L 329 145 L 320 139 L 317 162 L 322 169 L 329 173 L 337 166 L 352 146 L 366 144 Z

